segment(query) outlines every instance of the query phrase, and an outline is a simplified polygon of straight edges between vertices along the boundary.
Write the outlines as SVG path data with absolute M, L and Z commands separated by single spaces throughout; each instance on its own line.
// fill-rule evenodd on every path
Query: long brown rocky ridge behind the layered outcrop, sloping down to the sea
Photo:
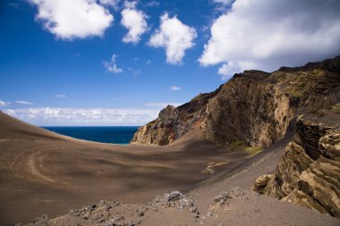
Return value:
M 299 68 L 244 71 L 215 92 L 201 94 L 136 132 L 132 143 L 168 145 L 194 128 L 216 145 L 235 140 L 269 146 L 285 136 L 296 113 L 313 113 L 337 103 L 340 56 Z

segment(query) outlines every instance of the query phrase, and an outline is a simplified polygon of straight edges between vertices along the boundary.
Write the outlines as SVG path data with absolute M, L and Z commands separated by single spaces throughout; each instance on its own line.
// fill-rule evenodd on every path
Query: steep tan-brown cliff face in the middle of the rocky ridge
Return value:
M 269 146 L 285 136 L 293 118 L 289 98 L 280 89 L 245 76 L 227 82 L 208 101 L 206 113 L 203 136 L 220 145 L 242 140 L 249 146 Z

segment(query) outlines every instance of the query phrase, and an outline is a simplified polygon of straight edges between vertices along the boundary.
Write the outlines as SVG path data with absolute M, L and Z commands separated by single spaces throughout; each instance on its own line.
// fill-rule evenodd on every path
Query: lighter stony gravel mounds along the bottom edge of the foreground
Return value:
M 181 192 L 173 191 L 155 197 L 147 205 L 100 201 L 97 205 L 72 210 L 69 214 L 54 219 L 48 219 L 47 216 L 36 218 L 30 225 L 319 225 L 321 222 L 323 225 L 338 225 L 340 221 L 310 212 L 306 208 L 236 187 L 215 197 L 208 206 L 206 215 L 200 215 L 197 207 Z M 82 218 L 87 213 L 88 217 Z M 296 214 L 299 214 L 299 218 L 290 217 Z

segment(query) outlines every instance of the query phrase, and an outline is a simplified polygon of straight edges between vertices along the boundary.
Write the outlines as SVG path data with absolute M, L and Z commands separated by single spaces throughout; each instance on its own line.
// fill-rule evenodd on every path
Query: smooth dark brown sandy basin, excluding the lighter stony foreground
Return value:
M 99 200 L 143 203 L 211 177 L 208 163 L 249 157 L 200 141 L 172 146 L 115 146 L 67 138 L 0 113 L 0 222 L 67 213 Z

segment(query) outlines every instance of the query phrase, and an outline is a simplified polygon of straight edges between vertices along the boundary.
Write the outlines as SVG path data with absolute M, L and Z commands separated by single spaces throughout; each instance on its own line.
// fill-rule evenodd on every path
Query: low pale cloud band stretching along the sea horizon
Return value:
M 5 109 L 35 125 L 143 125 L 157 118 L 159 108 L 21 108 Z

